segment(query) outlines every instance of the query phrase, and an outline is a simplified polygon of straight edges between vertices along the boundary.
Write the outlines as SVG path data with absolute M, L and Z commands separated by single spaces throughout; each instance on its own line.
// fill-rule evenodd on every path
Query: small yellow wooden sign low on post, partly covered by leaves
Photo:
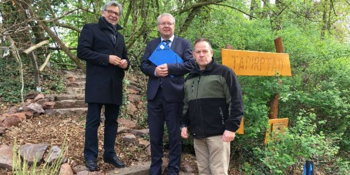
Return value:
M 289 121 L 289 118 L 270 119 L 269 120 L 270 129 L 266 131 L 265 143 L 268 143 L 269 138 L 271 140 L 275 140 L 278 133 L 284 133 L 285 128 L 288 128 L 288 121 Z

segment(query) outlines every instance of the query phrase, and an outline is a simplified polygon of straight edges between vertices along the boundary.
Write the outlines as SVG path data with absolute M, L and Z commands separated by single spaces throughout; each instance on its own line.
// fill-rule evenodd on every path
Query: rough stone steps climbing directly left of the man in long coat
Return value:
M 54 109 L 45 111 L 48 115 L 86 115 L 88 105 L 85 104 L 85 73 L 80 69 L 62 70 L 66 77 L 67 94 L 47 95 L 55 102 Z

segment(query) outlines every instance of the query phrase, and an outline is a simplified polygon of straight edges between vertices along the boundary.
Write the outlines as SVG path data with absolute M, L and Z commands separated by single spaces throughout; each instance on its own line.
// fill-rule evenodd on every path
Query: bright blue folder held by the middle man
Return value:
M 148 58 L 153 64 L 170 64 L 170 63 L 183 63 L 183 59 L 171 50 L 165 43 L 160 42 L 154 52 Z M 174 75 L 170 75 L 173 77 Z

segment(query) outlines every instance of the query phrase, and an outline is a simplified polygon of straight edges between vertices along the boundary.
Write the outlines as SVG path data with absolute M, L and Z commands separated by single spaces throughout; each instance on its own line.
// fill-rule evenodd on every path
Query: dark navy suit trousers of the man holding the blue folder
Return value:
M 178 174 L 181 161 L 180 102 L 167 102 L 158 90 L 153 100 L 147 104 L 149 137 L 151 144 L 150 174 L 161 174 L 163 157 L 164 122 L 169 135 L 168 174 Z

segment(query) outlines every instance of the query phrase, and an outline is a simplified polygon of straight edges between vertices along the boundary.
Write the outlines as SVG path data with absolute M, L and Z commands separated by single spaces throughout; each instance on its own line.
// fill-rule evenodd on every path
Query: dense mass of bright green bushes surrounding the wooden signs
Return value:
M 309 6 L 313 5 L 306 5 Z M 283 30 L 275 32 L 271 30 L 271 21 L 268 19 L 246 20 L 241 13 L 225 10 L 225 7 L 215 7 L 211 9 L 210 15 L 202 12 L 191 24 L 192 30 L 188 30 L 184 37 L 192 42 L 200 37 L 210 39 L 214 57 L 220 62 L 220 49 L 225 44 L 235 49 L 275 52 L 273 40 L 282 36 L 285 53 L 290 55 L 293 74 L 292 77 L 279 78 L 238 77 L 243 93 L 245 126 L 244 134 L 236 135 L 231 147 L 238 150 L 239 155 L 246 160 L 240 166 L 241 171 L 248 174 L 299 174 L 296 170 L 302 167 L 306 158 L 316 156 L 321 159 L 324 156 L 329 160 L 324 162 L 325 167 L 332 167 L 330 169 L 334 172 L 343 174 L 342 168 L 336 164 L 344 164 L 343 169 L 346 169 L 349 160 L 350 45 L 330 36 L 322 40 L 318 24 L 294 18 L 295 14 L 284 14 L 283 18 L 291 20 L 284 20 Z M 263 142 L 269 101 L 274 94 L 280 95 L 279 118 L 288 117 L 289 128 L 292 129 L 286 135 L 287 138 L 265 147 Z M 300 109 L 314 109 L 312 115 L 308 114 L 313 119 L 306 121 L 311 125 L 307 125 L 307 129 L 312 134 L 298 135 L 294 131 L 294 128 L 305 123 L 298 118 Z M 296 137 L 297 141 L 307 141 L 300 146 L 288 136 L 293 136 L 293 139 Z M 319 145 L 310 146 L 313 143 Z M 336 163 L 338 161 L 341 163 Z M 316 168 L 319 167 L 322 166 L 316 164 Z M 332 172 L 329 169 L 322 170 Z

